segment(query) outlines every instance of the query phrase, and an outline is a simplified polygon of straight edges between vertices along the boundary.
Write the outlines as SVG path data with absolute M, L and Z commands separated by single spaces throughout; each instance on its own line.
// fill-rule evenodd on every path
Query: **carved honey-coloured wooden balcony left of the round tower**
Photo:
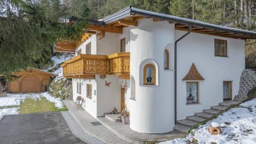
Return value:
M 120 79 L 130 77 L 130 52 L 109 55 L 79 54 L 63 65 L 67 78 L 95 79 L 95 75 L 116 75 Z

